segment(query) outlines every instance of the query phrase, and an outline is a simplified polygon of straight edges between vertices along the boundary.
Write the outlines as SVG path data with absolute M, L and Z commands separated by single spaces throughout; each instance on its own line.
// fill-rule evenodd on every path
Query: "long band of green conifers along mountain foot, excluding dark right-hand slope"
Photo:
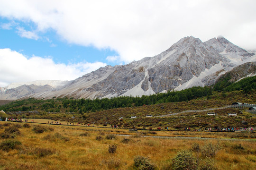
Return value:
M 165 102 L 182 102 L 196 99 L 202 96 L 210 96 L 212 90 L 210 87 L 192 87 L 182 91 L 170 91 L 167 93 L 158 93 L 153 95 L 143 95 L 141 97 L 121 96 L 103 99 L 67 99 L 56 98 L 48 100 L 37 100 L 29 98 L 10 102 L 0 107 L 5 111 L 32 111 L 43 110 L 46 112 L 94 112 L 99 110 L 108 110 L 122 107 L 143 106 Z

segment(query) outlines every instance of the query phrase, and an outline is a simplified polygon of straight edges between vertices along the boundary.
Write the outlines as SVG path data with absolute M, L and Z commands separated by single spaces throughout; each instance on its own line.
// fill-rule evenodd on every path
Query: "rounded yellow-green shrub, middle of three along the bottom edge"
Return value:
M 192 152 L 189 150 L 178 152 L 172 159 L 172 166 L 173 170 L 196 170 Z

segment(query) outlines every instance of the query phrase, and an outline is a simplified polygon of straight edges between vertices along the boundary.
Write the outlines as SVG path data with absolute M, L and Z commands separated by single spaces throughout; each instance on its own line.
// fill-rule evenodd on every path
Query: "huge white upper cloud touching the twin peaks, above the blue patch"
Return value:
M 256 48 L 255 7 L 255 0 L 5 0 L 0 16 L 34 22 L 42 33 L 53 29 L 69 43 L 110 48 L 128 63 L 190 35 L 207 41 L 221 34 Z

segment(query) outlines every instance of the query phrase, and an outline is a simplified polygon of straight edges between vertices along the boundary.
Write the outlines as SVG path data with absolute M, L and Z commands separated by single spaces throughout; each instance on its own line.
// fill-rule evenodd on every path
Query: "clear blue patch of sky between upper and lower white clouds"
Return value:
M 8 25 L 10 22 L 15 24 L 5 28 L 4 25 Z M 23 23 L 18 20 L 0 17 L 0 25 L 2 26 L 0 29 L 0 39 L 2 40 L 0 41 L 0 48 L 10 48 L 26 55 L 28 58 L 33 55 L 51 57 L 56 63 L 65 64 L 83 62 L 84 60 L 88 62 L 102 61 L 108 65 L 120 64 L 106 59 L 108 56 L 117 56 L 116 51 L 109 48 L 97 49 L 93 46 L 68 43 L 56 35 L 54 30 L 39 34 L 37 39 L 22 37 L 19 34 L 18 27 L 27 31 L 37 29 L 37 26 L 31 22 Z

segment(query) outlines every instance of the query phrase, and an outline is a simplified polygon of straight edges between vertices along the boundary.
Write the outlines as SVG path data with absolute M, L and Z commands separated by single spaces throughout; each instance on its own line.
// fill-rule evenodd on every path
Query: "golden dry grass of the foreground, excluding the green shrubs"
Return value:
M 0 133 L 6 128 L 3 124 L 0 122 Z M 256 167 L 256 140 L 154 138 L 141 137 L 123 129 L 55 125 L 42 125 L 52 127 L 54 131 L 37 134 L 33 128 L 38 125 L 30 125 L 29 128 L 19 128 L 21 135 L 14 139 L 20 141 L 21 146 L 9 152 L 0 150 L 0 170 L 136 170 L 133 161 L 136 155 L 148 156 L 158 170 L 166 170 L 179 151 L 191 149 L 193 143 L 202 146 L 209 142 L 221 146 L 214 158 L 218 170 L 255 170 Z M 109 134 L 133 136 L 116 136 L 110 140 L 106 139 Z M 199 134 L 201 137 L 213 136 L 213 133 Z M 166 131 L 157 131 L 157 135 L 197 136 L 193 132 Z M 102 136 L 102 139 L 96 140 L 96 136 Z M 218 137 L 218 133 L 214 136 Z M 121 142 L 124 138 L 130 139 L 127 144 Z M 0 138 L 0 143 L 5 140 L 8 139 Z M 117 145 L 115 153 L 108 151 L 112 144 Z

